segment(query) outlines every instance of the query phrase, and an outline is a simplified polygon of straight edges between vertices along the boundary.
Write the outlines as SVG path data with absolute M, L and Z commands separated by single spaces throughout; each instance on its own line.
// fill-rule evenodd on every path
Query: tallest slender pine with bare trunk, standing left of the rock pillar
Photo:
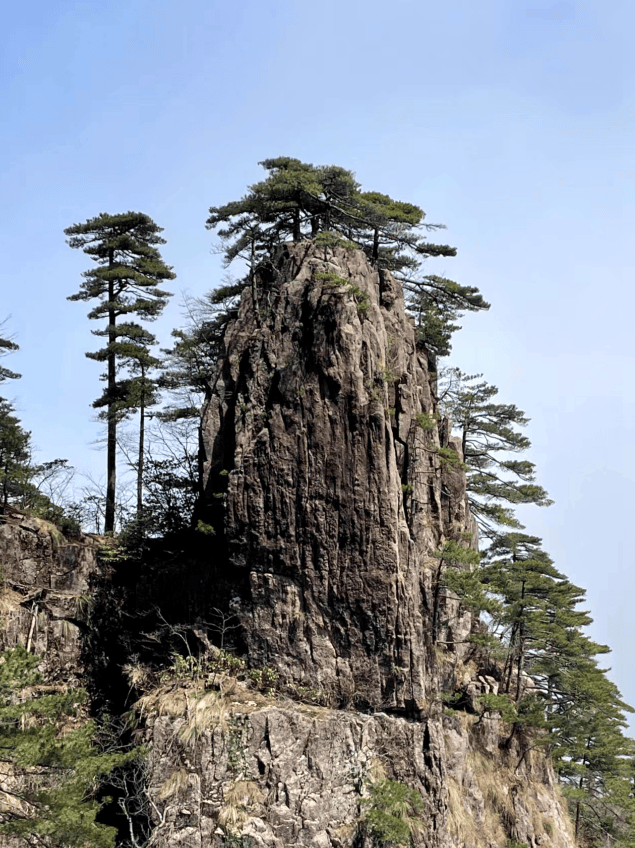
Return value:
M 97 300 L 88 317 L 107 321 L 104 329 L 93 330 L 95 335 L 107 339 L 105 347 L 86 354 L 90 359 L 107 363 L 106 389 L 96 401 L 97 406 L 105 403 L 107 410 L 106 533 L 112 532 L 115 524 L 117 423 L 122 403 L 117 367 L 121 358 L 129 354 L 131 346 L 138 343 L 142 329 L 133 322 L 118 324 L 117 320 L 123 315 L 136 314 L 152 321 L 170 296 L 158 287 L 162 280 L 176 276 L 155 247 L 165 244 L 160 232 L 162 228 L 140 212 L 102 213 L 64 230 L 69 236 L 69 246 L 82 248 L 97 263 L 96 268 L 84 272 L 80 291 L 68 299 Z

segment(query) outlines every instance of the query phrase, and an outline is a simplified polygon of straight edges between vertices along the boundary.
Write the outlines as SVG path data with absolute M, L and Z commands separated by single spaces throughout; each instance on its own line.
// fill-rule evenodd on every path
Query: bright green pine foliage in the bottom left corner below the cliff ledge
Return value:
M 40 694 L 39 659 L 24 648 L 4 651 L 0 662 L 0 833 L 27 844 L 111 848 L 115 829 L 99 824 L 101 779 L 138 756 L 105 752 L 95 744 L 94 722 L 70 723 L 84 710 L 81 689 Z M 62 726 L 65 726 L 62 732 Z

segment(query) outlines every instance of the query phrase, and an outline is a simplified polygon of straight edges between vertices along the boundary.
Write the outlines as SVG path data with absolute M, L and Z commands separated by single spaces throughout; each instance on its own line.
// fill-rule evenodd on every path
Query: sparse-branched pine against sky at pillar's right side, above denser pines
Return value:
M 439 404 L 461 434 L 470 510 L 482 535 L 491 537 L 501 525 L 522 529 L 509 504 L 549 506 L 553 501 L 536 485 L 533 462 L 508 457 L 531 447 L 529 439 L 516 429 L 526 426 L 529 419 L 514 404 L 493 403 L 498 389 L 486 382 L 476 383 L 481 376 L 445 369 L 439 383 Z

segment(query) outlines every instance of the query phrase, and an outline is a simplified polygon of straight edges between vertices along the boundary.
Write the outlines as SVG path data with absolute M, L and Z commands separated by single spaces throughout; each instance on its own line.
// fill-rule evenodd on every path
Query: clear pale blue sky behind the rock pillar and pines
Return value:
M 435 271 L 492 303 L 450 364 L 531 417 L 530 458 L 556 501 L 526 513 L 588 590 L 593 635 L 635 703 L 635 7 L 483 0 L 41 0 L 5 12 L 0 55 L 2 297 L 21 346 L 7 364 L 38 459 L 101 473 L 90 263 L 64 227 L 146 212 L 179 292 L 222 275 L 208 207 L 279 155 L 356 172 L 445 223 Z M 92 323 L 92 322 L 91 322 Z

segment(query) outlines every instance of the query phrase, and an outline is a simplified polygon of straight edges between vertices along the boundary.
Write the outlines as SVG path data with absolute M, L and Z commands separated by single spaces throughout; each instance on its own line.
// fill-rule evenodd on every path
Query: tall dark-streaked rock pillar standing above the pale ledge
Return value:
M 401 286 L 361 251 L 286 245 L 225 343 L 204 486 L 250 662 L 418 712 L 436 688 L 431 553 L 475 533 Z M 448 618 L 458 641 L 470 622 Z

